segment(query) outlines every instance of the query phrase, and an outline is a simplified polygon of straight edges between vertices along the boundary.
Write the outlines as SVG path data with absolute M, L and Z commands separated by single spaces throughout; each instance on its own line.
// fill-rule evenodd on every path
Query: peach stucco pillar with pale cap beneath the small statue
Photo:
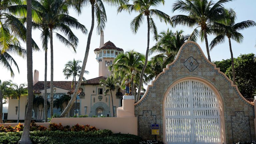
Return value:
M 123 106 L 117 108 L 117 117 L 134 117 L 134 96 L 124 95 Z

